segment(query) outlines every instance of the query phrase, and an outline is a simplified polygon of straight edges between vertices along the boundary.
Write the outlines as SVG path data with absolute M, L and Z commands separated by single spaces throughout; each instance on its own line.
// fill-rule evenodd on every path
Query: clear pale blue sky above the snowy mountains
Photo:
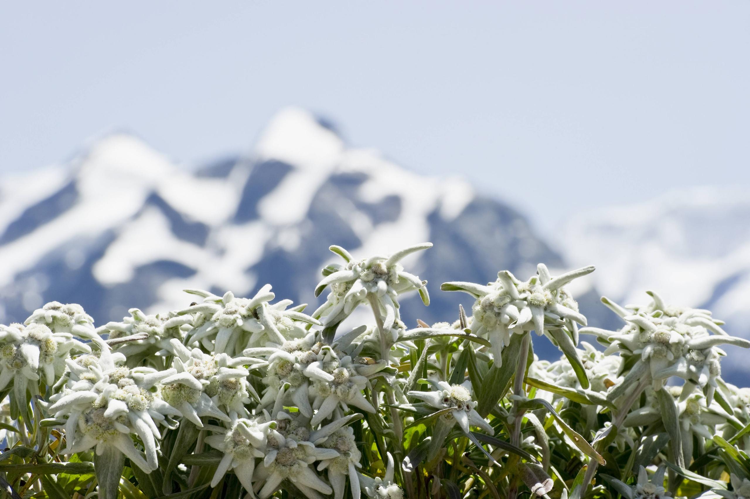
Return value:
M 544 227 L 750 185 L 750 2 L 1 2 L 0 174 L 111 128 L 186 165 L 288 104 Z

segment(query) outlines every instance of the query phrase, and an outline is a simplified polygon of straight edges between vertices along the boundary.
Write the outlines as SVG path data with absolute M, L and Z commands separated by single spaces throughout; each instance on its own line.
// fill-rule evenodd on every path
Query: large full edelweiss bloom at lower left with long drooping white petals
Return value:
M 115 360 L 121 362 L 124 357 L 112 355 L 101 339 L 95 342 L 101 348 L 100 358 L 88 355 L 77 362 L 69 360 L 67 386 L 50 397 L 49 413 L 57 419 L 67 417 L 68 446 L 61 453 L 74 454 L 96 446 L 97 454 L 102 455 L 112 446 L 150 473 L 158 467 L 157 423 L 174 428 L 176 422 L 170 416 L 180 414 L 158 398 L 158 383 L 175 371 L 115 365 Z M 130 434 L 140 438 L 145 459 L 133 446 Z

